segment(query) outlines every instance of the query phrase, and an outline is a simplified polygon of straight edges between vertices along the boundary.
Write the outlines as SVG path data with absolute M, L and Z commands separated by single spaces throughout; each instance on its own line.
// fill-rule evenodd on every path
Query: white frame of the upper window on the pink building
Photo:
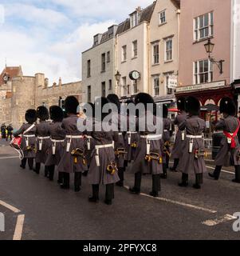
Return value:
M 205 22 L 205 16 L 208 16 L 208 22 Z M 203 26 L 200 26 L 200 19 L 203 18 Z M 203 30 L 203 37 L 201 31 Z M 200 15 L 193 20 L 193 38 L 195 42 L 214 36 L 214 12 Z

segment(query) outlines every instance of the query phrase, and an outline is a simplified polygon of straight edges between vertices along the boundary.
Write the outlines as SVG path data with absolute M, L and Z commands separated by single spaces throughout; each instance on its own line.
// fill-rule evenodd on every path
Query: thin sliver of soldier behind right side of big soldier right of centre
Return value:
M 167 178 L 167 168 L 171 154 L 170 150 L 171 119 L 168 118 L 168 108 L 163 104 L 163 174 L 161 178 Z

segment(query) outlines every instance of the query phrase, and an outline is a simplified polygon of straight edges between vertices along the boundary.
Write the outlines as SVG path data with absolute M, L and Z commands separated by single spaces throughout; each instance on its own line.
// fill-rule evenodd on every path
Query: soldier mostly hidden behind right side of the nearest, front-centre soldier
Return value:
M 124 186 L 124 158 L 127 154 L 125 149 L 124 133 L 121 131 L 121 114 L 120 114 L 120 100 L 116 94 L 109 94 L 107 97 L 108 101 L 116 106 L 117 112 L 112 113 L 112 124 L 115 125 L 118 130 L 118 141 L 115 143 L 115 154 L 116 154 L 116 166 L 118 169 L 119 182 L 116 182 L 116 186 Z

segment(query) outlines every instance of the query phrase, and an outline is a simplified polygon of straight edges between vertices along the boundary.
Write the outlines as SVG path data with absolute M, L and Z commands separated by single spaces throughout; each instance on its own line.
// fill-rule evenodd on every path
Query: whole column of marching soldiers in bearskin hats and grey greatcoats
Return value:
M 116 94 L 110 94 L 107 98 L 98 98 L 94 107 L 104 107 L 108 102 L 116 104 L 120 110 L 120 100 Z M 127 104 L 143 103 L 145 110 L 136 116 L 138 122 L 148 116 L 147 105 L 155 102 L 149 94 L 138 94 L 134 101 Z M 105 200 L 107 205 L 112 204 L 114 198 L 114 186 L 124 186 L 124 171 L 130 167 L 135 174 L 135 183 L 129 191 L 132 194 L 140 194 L 141 181 L 144 174 L 152 175 L 152 190 L 150 195 L 158 197 L 161 190 L 160 179 L 167 178 L 169 156 L 174 159 L 171 171 L 179 171 L 183 174 L 181 187 L 187 187 L 189 174 L 195 174 L 195 189 L 200 189 L 203 184 L 203 174 L 207 171 L 204 156 L 204 137 L 206 123 L 199 118 L 200 104 L 194 97 L 179 98 L 177 101 L 179 114 L 175 118 L 175 126 L 178 131 L 175 145 L 170 152 L 171 120 L 167 118 L 167 106 L 163 105 L 163 132 L 126 132 L 95 131 L 94 126 L 102 122 L 106 114 L 101 111 L 101 118 L 86 116 L 93 121 L 92 132 L 81 132 L 77 129 L 79 113 L 77 98 L 69 96 L 65 100 L 64 116 L 59 106 L 51 106 L 49 110 L 45 106 L 39 106 L 36 110 L 26 111 L 26 122 L 14 133 L 14 137 L 22 136 L 21 149 L 24 155 L 21 167 L 26 169 L 28 162 L 30 170 L 39 174 L 41 164 L 45 165 L 45 177 L 53 181 L 54 170 L 57 170 L 61 189 L 69 190 L 70 174 L 74 174 L 74 188 L 76 192 L 81 190 L 81 176 L 87 176 L 92 186 L 92 195 L 89 202 L 99 202 L 99 187 L 106 187 Z M 154 107 L 154 122 L 156 118 Z M 223 130 L 225 138 L 222 138 L 221 150 L 216 159 L 216 169 L 210 177 L 218 180 L 222 166 L 235 166 L 236 177 L 233 182 L 240 182 L 240 158 L 238 130 L 240 122 L 235 118 L 236 107 L 230 98 L 222 98 L 220 112 L 223 117 L 217 124 L 218 130 Z M 39 118 L 39 122 L 37 122 Z M 48 122 L 48 119 L 52 122 Z M 112 122 L 118 122 L 120 126 L 120 111 Z M 35 159 L 35 166 L 33 160 Z M 56 171 L 55 171 L 56 173 Z

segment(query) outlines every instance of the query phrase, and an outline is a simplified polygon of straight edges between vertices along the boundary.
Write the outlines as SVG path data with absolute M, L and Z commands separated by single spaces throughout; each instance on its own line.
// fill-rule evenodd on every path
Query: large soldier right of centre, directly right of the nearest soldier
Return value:
M 159 131 L 153 131 L 158 117 L 153 115 L 153 111 L 147 110 L 147 106 L 150 105 L 154 108 L 155 102 L 149 94 L 140 93 L 136 95 L 135 103 L 136 105 L 143 103 L 145 110 L 144 112 L 140 111 L 137 118 L 137 130 L 140 131 L 140 140 L 136 149 L 136 158 L 132 164 L 132 173 L 135 174 L 135 185 L 129 190 L 132 194 L 140 194 L 142 175 L 151 174 L 152 190 L 150 195 L 158 197 L 160 174 L 163 174 L 163 156 L 160 142 L 162 134 Z M 145 118 L 150 115 L 153 115 L 153 123 L 147 123 L 147 118 Z M 158 121 L 162 123 L 162 120 Z M 140 124 L 143 123 L 145 131 L 140 129 Z

